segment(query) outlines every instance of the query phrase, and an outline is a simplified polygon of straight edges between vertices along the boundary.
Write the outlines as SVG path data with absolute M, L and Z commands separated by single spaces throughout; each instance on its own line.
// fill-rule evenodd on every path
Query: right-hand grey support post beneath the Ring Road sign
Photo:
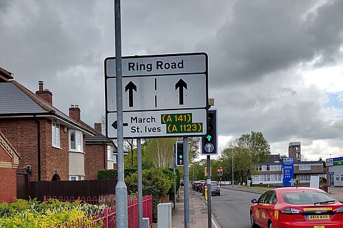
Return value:
M 185 228 L 189 228 L 189 167 L 188 167 L 188 137 L 183 137 L 183 197 L 185 199 L 184 209 L 185 209 Z

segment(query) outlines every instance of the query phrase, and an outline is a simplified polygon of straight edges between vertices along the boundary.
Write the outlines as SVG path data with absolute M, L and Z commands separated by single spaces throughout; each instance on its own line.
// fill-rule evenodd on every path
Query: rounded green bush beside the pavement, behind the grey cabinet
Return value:
M 166 172 L 167 175 L 164 172 Z M 152 194 L 152 220 L 153 223 L 156 223 L 157 205 L 160 199 L 165 197 L 169 192 L 172 180 L 169 179 L 169 170 L 163 171 L 162 168 L 143 170 L 142 175 L 143 196 Z M 133 192 L 138 191 L 137 173 L 132 173 L 132 175 L 126 177 L 125 182 L 130 184 Z

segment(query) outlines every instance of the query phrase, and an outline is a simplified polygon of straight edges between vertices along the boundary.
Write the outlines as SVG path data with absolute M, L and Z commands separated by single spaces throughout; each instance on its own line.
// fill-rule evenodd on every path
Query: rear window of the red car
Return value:
M 324 192 L 289 192 L 282 194 L 283 201 L 289 204 L 317 204 L 335 202 L 335 199 Z

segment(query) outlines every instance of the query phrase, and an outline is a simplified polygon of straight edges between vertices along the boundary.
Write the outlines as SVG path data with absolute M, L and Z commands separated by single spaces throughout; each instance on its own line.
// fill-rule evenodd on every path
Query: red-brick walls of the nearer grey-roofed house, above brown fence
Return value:
M 58 174 L 61 180 L 69 180 L 68 166 L 68 133 L 60 126 L 61 149 L 52 147 L 51 121 L 41 118 L 40 121 L 40 178 L 51 181 Z M 25 166 L 30 165 L 32 174 L 30 181 L 38 180 L 38 143 L 37 122 L 32 118 L 4 120 L 0 119 L 0 129 L 3 135 L 21 155 L 18 172 L 22 173 Z

